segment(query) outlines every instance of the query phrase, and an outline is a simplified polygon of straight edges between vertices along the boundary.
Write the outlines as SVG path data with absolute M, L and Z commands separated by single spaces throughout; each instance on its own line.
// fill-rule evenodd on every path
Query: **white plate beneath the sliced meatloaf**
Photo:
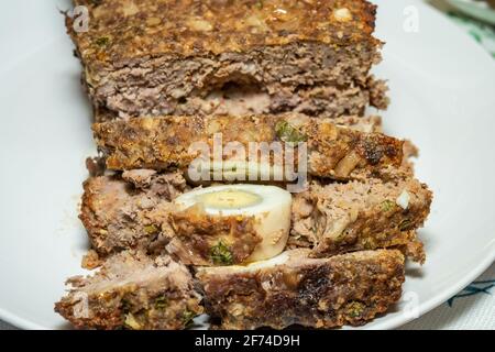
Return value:
M 418 176 L 436 195 L 421 231 L 428 262 L 408 270 L 405 284 L 418 309 L 403 301 L 366 326 L 388 329 L 440 305 L 494 261 L 495 63 L 422 2 L 376 2 L 377 35 L 387 42 L 377 72 L 393 100 L 385 124 L 421 147 Z M 55 3 L 68 7 L 9 1 L 0 14 L 0 318 L 21 328 L 67 327 L 53 304 L 64 280 L 84 273 L 87 249 L 77 205 L 85 157 L 95 154 L 90 109 Z M 404 23 L 416 10 L 419 32 L 409 33 Z

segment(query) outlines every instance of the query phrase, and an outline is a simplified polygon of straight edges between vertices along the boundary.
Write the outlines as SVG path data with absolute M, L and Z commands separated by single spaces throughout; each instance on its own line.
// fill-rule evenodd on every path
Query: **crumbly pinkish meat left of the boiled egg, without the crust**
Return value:
M 116 175 L 91 177 L 84 184 L 79 218 L 98 254 L 147 249 L 160 240 L 157 218 L 170 210 L 169 200 L 189 188 L 179 173 L 153 173 L 132 170 L 123 174 L 128 182 Z M 143 175 L 150 179 L 143 180 Z

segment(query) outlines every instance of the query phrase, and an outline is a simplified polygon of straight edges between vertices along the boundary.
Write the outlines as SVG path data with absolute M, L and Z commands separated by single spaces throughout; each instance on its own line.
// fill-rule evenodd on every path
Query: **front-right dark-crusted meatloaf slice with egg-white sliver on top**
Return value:
M 404 255 L 380 250 L 311 258 L 295 250 L 249 266 L 198 268 L 196 277 L 222 329 L 360 326 L 400 298 Z

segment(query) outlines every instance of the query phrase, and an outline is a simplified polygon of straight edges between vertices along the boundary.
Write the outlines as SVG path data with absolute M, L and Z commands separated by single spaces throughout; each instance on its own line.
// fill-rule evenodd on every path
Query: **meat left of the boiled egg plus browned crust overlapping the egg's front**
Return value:
M 134 169 L 121 176 L 91 177 L 84 186 L 79 218 L 102 258 L 140 249 L 148 253 L 166 250 L 184 264 L 239 264 L 262 240 L 252 218 L 177 211 L 170 200 L 190 189 L 179 173 Z M 92 257 L 85 260 L 85 266 L 98 265 Z

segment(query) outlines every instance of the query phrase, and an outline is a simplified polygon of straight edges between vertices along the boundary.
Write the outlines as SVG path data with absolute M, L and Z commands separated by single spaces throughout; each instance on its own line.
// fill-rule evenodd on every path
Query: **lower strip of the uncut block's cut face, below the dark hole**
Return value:
M 272 94 L 253 85 L 229 82 L 222 88 L 210 91 L 206 97 L 191 96 L 187 102 L 177 99 L 156 101 L 156 97 L 147 97 L 146 105 L 151 111 L 146 117 L 173 116 L 246 116 L 246 114 L 282 114 L 298 112 L 310 117 L 338 119 L 342 116 L 355 114 L 362 118 L 365 109 L 373 100 L 373 107 L 386 109 L 388 98 L 385 82 L 370 78 L 373 89 L 362 87 L 336 88 L 334 86 L 300 87 L 295 91 L 280 89 Z M 117 98 L 114 98 L 117 99 Z M 124 98 L 119 98 L 112 109 L 97 106 L 96 122 L 120 119 Z M 111 100 L 113 102 L 113 99 Z M 136 111 L 132 117 L 140 117 Z M 129 117 L 124 116 L 123 119 Z

